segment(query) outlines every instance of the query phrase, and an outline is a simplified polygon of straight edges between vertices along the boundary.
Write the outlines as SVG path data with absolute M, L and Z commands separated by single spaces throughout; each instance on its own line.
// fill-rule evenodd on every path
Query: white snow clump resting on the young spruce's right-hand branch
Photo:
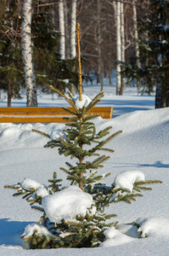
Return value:
M 141 171 L 126 171 L 121 172 L 115 176 L 115 180 L 113 185 L 115 189 L 128 189 L 132 192 L 133 183 L 138 181 L 144 181 L 145 176 L 144 173 Z

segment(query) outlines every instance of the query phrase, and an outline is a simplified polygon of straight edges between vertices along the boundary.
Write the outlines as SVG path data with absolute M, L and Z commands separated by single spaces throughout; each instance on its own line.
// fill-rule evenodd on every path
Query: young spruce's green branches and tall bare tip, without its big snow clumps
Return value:
M 79 50 L 79 101 L 82 102 L 82 67 L 80 61 L 79 33 L 78 25 L 76 34 Z M 72 107 L 72 110 L 64 108 L 66 112 L 72 115 L 70 118 L 66 118 L 68 121 L 66 123 L 67 128 L 63 131 L 65 136 L 51 140 L 48 134 L 42 131 L 33 131 L 50 139 L 45 147 L 57 147 L 59 148 L 59 154 L 64 154 L 65 157 L 70 156 L 70 159 L 76 159 L 74 164 L 66 162 L 67 168 L 60 167 L 60 170 L 67 174 L 70 185 L 79 187 L 82 195 L 83 193 L 85 195 L 92 195 L 93 205 L 88 209 L 85 216 L 78 214 L 73 221 L 67 221 L 63 218 L 61 222 L 54 223 L 48 218 L 44 207 L 42 207 L 42 197 L 44 196 L 44 191 L 48 191 L 47 195 L 57 195 L 57 193 L 66 191 L 66 188 L 63 188 L 60 184 L 61 180 L 57 179 L 56 172 L 54 172 L 53 179 L 48 180 L 50 183 L 48 188 L 44 186 L 39 187 L 37 183 L 34 183 L 30 187 L 25 186 L 26 179 L 17 185 L 6 186 L 7 188 L 17 189 L 17 193 L 14 195 L 23 195 L 23 198 L 30 202 L 32 208 L 42 211 L 40 221 L 37 224 L 25 227 L 25 232 L 21 237 L 25 243 L 29 244 L 31 249 L 98 247 L 101 242 L 105 241 L 104 230 L 110 226 L 115 226 L 117 223 L 109 222 L 108 224 L 107 220 L 116 215 L 107 215 L 104 213 L 104 207 L 108 207 L 110 203 L 118 201 L 131 203 L 131 201 L 135 200 L 136 196 L 142 196 L 140 194 L 141 189 L 150 189 L 145 186 L 146 184 L 158 183 L 158 181 L 135 182 L 133 183 L 132 191 L 124 188 L 116 188 L 114 183 L 111 186 L 101 183 L 101 180 L 109 176 L 110 173 L 98 175 L 97 170 L 99 167 L 103 167 L 104 161 L 109 160 L 110 156 L 99 154 L 99 152 L 114 152 L 113 149 L 106 148 L 106 144 L 121 133 L 121 131 L 117 131 L 110 134 L 111 126 L 99 132 L 96 131 L 93 119 L 98 117 L 98 114 L 88 114 L 89 110 L 101 100 L 104 93 L 100 92 L 86 107 L 82 106 L 82 108 L 78 108 L 69 92 L 69 97 L 67 97 L 60 90 L 52 86 L 50 88 L 58 92 L 60 96 L 63 96 Z M 91 158 L 92 160 L 90 160 Z M 43 192 L 40 193 L 40 189 Z

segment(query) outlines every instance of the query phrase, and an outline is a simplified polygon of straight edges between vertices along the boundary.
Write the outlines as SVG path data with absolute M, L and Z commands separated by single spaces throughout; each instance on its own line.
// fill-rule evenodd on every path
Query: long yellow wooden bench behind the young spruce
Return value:
M 73 108 L 70 108 L 71 110 Z M 111 119 L 112 107 L 93 107 L 88 113 L 99 113 L 103 119 Z M 0 123 L 65 123 L 70 117 L 63 108 L 0 108 Z

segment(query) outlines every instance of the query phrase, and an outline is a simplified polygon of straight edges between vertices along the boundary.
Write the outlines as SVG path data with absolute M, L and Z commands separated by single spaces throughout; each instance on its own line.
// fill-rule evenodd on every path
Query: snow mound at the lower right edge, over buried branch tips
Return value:
M 141 237 L 167 236 L 169 238 L 169 219 L 167 218 L 138 218 L 135 223 L 140 226 L 138 233 Z

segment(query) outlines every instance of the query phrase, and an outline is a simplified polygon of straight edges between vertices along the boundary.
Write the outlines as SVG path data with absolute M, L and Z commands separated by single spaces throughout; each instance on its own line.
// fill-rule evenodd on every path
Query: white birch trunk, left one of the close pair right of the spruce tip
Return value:
M 121 2 L 116 3 L 116 59 L 121 61 Z M 121 90 L 121 65 L 117 63 L 117 82 L 116 82 L 116 95 L 120 95 Z

